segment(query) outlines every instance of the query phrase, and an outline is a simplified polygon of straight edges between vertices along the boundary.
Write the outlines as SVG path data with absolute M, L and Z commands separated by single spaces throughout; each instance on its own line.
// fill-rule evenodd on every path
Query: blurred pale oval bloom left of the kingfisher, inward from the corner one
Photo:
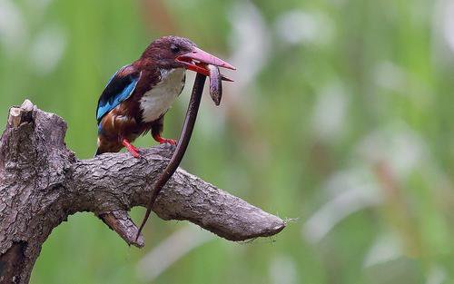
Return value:
M 64 54 L 66 39 L 57 27 L 48 27 L 36 36 L 30 49 L 30 64 L 37 74 L 44 75 L 54 70 Z

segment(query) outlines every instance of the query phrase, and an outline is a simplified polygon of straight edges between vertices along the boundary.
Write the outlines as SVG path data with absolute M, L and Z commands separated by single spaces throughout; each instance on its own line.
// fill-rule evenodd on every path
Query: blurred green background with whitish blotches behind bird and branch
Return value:
M 0 0 L 0 117 L 28 98 L 89 159 L 104 84 L 164 34 L 238 67 L 220 107 L 205 95 L 183 167 L 288 227 L 234 243 L 153 216 L 137 250 L 79 213 L 32 283 L 454 281 L 454 1 Z

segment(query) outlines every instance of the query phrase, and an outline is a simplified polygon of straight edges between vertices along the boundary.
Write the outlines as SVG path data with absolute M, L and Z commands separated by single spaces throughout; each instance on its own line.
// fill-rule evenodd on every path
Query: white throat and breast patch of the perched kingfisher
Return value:
M 161 80 L 152 89 L 143 93 L 140 100 L 143 122 L 153 122 L 171 107 L 175 98 L 182 93 L 185 70 L 176 68 L 161 71 Z

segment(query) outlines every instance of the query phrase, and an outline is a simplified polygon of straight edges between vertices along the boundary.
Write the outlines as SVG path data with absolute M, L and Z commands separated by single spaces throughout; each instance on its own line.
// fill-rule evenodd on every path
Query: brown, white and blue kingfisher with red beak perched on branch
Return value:
M 175 144 L 174 140 L 161 137 L 164 114 L 183 91 L 186 69 L 209 76 L 207 64 L 235 69 L 186 38 L 163 36 L 133 64 L 120 68 L 98 101 L 95 155 L 119 152 L 125 147 L 138 158 L 140 154 L 131 142 L 148 131 L 156 142 Z

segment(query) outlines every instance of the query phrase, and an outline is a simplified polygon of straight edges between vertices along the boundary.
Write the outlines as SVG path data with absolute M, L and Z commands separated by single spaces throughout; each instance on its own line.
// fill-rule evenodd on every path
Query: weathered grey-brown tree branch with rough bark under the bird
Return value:
M 143 149 L 140 160 L 128 153 L 78 160 L 64 144 L 65 132 L 62 118 L 29 101 L 10 109 L 0 140 L 0 283 L 27 283 L 44 241 L 75 212 L 94 212 L 129 245 L 143 247 L 127 212 L 147 203 L 174 147 Z M 227 240 L 271 236 L 285 227 L 280 218 L 181 169 L 153 211 Z

